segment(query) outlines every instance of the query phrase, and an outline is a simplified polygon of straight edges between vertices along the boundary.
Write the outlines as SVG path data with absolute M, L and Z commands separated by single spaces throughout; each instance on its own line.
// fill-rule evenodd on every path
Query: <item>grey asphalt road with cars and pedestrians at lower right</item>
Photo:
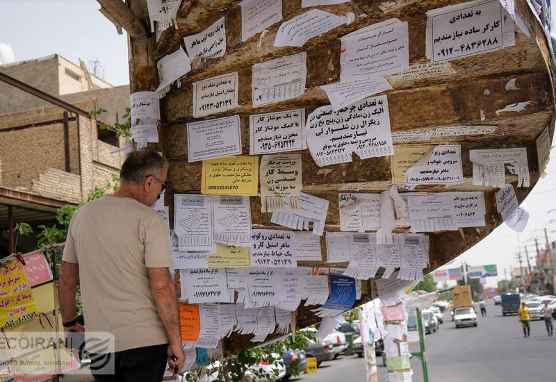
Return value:
M 477 309 L 478 310 L 478 309 Z M 487 317 L 478 326 L 455 329 L 445 313 L 439 331 L 425 336 L 430 382 L 556 381 L 556 335 L 548 338 L 543 321 L 531 322 L 531 336 L 523 338 L 515 315 L 502 317 L 500 306 L 487 303 Z M 411 351 L 418 350 L 412 347 Z M 380 361 L 380 358 L 378 358 Z M 411 358 L 414 382 L 423 381 L 418 358 Z M 386 367 L 379 366 L 379 382 Z M 315 374 L 291 381 L 365 381 L 363 358 L 341 357 L 322 363 Z

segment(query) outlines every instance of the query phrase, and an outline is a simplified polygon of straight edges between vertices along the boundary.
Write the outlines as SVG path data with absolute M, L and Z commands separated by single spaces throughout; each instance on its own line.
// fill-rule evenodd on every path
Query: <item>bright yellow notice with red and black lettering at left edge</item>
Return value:
M 10 328 L 38 317 L 39 313 L 19 260 L 0 267 L 0 326 Z

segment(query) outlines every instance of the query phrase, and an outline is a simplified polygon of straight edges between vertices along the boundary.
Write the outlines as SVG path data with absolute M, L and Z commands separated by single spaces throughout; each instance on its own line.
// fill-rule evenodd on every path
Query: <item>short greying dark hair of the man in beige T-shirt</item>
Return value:
M 153 149 L 131 151 L 120 169 L 120 178 L 122 181 L 142 183 L 149 175 L 160 178 L 163 169 L 168 166 L 168 161 Z

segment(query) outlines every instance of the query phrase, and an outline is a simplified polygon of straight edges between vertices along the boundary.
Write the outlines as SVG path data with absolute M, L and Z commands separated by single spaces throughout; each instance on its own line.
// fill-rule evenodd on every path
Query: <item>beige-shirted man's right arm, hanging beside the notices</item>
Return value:
M 168 363 L 170 368 L 177 366 L 181 370 L 186 362 L 186 355 L 181 348 L 181 335 L 179 333 L 179 309 L 174 281 L 170 278 L 167 268 L 150 268 L 149 282 L 152 296 L 156 303 L 156 310 L 160 315 L 166 335 L 168 336 Z M 176 358 L 176 360 L 173 359 Z

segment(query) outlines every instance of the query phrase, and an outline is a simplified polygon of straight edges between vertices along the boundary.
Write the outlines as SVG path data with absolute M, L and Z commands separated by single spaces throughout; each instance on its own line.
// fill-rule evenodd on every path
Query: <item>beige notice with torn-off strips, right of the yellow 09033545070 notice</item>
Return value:
M 303 187 L 301 154 L 274 154 L 261 158 L 261 212 L 281 211 L 284 197 L 297 210 Z

